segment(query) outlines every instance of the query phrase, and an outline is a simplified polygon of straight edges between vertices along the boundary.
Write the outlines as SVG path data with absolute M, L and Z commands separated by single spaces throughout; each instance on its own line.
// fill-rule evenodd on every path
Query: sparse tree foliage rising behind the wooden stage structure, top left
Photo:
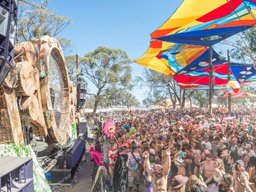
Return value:
M 47 9 L 48 1 L 37 4 L 33 1 L 19 1 L 17 42 L 27 42 L 36 37 L 49 35 L 57 37 L 72 21 L 67 16 L 58 16 L 56 10 Z M 70 40 L 58 37 L 62 49 L 70 47 Z

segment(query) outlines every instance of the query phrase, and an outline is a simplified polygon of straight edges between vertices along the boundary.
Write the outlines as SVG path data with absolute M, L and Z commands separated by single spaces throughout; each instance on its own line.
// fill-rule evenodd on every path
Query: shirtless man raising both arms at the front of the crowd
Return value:
M 166 192 L 167 191 L 167 178 L 169 175 L 169 171 L 171 168 L 171 150 L 166 150 L 166 163 L 165 165 L 156 164 L 154 167 L 154 171 L 151 171 L 150 163 L 149 163 L 149 153 L 145 151 L 143 156 L 145 157 L 145 164 L 153 181 L 153 188 L 155 192 Z

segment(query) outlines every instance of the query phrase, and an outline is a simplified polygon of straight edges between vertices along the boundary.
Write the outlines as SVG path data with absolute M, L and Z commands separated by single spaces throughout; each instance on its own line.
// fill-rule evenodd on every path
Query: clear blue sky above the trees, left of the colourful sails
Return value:
M 148 49 L 150 33 L 169 19 L 179 4 L 181 0 L 52 0 L 48 8 L 72 20 L 60 34 L 72 41 L 73 51 L 65 56 L 82 57 L 105 46 L 122 49 L 134 60 Z M 143 67 L 136 63 L 131 66 L 133 77 L 141 76 Z M 142 101 L 145 92 L 137 87 L 133 95 Z

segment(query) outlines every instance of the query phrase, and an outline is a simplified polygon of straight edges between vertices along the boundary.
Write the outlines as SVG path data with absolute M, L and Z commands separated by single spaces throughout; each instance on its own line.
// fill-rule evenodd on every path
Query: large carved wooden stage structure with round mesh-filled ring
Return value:
M 60 42 L 44 36 L 14 50 L 14 64 L 0 87 L 0 143 L 23 144 L 25 122 L 36 136 L 64 145 L 77 100 Z

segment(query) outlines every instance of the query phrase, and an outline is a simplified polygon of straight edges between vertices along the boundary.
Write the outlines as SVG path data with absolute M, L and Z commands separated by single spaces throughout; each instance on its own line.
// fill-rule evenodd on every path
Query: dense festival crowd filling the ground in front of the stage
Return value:
M 94 125 L 110 191 L 256 191 L 255 112 L 138 110 L 98 114 Z

